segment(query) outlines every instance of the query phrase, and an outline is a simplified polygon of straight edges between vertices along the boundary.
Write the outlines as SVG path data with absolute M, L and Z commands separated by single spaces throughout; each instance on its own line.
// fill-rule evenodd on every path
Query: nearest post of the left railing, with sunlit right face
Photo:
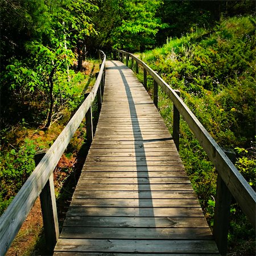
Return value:
M 36 166 L 45 154 L 46 152 L 39 152 L 35 155 Z M 40 202 L 43 215 L 44 234 L 46 236 L 46 247 L 49 252 L 52 252 L 60 236 L 53 174 L 49 176 L 49 180 L 40 193 Z

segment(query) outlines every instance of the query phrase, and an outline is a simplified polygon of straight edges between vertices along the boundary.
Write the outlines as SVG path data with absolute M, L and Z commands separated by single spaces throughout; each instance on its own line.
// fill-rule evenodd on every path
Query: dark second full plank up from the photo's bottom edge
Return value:
M 64 226 L 60 238 L 97 238 L 129 240 L 213 240 L 209 228 L 104 228 Z

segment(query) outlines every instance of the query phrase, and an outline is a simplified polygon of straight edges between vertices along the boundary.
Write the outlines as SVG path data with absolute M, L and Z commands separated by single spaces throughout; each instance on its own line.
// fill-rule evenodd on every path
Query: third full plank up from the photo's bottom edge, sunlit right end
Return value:
M 204 217 L 67 216 L 64 226 L 106 228 L 209 228 Z

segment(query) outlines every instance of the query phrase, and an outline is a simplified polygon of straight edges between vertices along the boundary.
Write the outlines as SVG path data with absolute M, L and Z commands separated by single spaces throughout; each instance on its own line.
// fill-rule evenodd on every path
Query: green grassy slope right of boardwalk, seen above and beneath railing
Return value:
M 255 20 L 223 20 L 212 31 L 199 30 L 141 55 L 181 97 L 222 147 L 246 148 L 237 167 L 255 187 Z M 141 77 L 142 79 L 142 77 Z M 152 84 L 152 82 L 151 82 Z M 152 90 L 152 86 L 151 86 Z M 159 92 L 160 113 L 172 130 L 172 103 Z M 200 203 L 213 224 L 216 171 L 181 120 L 180 154 Z M 255 253 L 255 232 L 232 206 L 230 251 Z M 241 240 L 241 241 L 240 241 Z M 246 242 L 245 242 L 246 241 Z

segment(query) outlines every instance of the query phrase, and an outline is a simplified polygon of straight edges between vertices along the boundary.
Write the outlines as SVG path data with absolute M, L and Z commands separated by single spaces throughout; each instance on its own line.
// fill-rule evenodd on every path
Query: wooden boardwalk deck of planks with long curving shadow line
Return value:
M 96 134 L 54 255 L 218 255 L 174 141 L 134 73 L 107 61 Z

